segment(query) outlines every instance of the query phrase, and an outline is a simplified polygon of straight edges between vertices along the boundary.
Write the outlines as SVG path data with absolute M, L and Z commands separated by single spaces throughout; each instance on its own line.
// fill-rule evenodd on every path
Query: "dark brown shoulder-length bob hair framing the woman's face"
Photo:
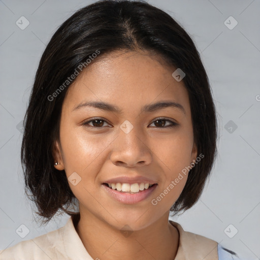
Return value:
M 185 73 L 194 142 L 198 154 L 204 157 L 189 171 L 185 187 L 170 211 L 175 215 L 189 209 L 199 200 L 217 155 L 215 105 L 200 54 L 190 36 L 170 15 L 144 1 L 95 2 L 74 13 L 52 36 L 41 57 L 24 116 L 21 161 L 26 195 L 45 223 L 58 211 L 75 214 L 69 209 L 77 200 L 64 170 L 54 168 L 53 153 L 54 142 L 59 142 L 62 103 L 74 81 L 60 93 L 53 93 L 97 50 L 97 58 L 118 50 L 148 51 Z

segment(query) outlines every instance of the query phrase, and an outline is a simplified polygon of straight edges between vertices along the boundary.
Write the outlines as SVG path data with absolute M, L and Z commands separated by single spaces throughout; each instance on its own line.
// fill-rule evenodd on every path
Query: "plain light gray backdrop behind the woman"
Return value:
M 57 217 L 41 227 L 34 220 L 24 195 L 19 123 L 52 34 L 77 9 L 93 2 L 0 0 L 0 249 L 60 228 L 68 219 Z M 171 219 L 184 230 L 214 239 L 247 259 L 260 259 L 259 0 L 149 3 L 173 16 L 196 42 L 219 117 L 219 156 L 211 179 L 200 201 Z M 21 16 L 29 21 L 23 30 L 16 25 Z M 230 16 L 238 22 L 233 29 L 224 23 Z M 235 25 L 234 20 L 227 22 L 230 27 Z M 16 233 L 21 224 L 29 230 L 24 238 Z

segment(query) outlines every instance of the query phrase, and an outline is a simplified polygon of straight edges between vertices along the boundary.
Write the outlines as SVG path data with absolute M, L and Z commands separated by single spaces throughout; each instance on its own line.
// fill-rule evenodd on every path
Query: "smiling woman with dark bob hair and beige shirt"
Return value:
M 25 119 L 27 194 L 43 222 L 71 217 L 0 259 L 234 259 L 169 220 L 201 196 L 217 123 L 199 53 L 164 11 L 131 1 L 77 11 L 43 53 Z

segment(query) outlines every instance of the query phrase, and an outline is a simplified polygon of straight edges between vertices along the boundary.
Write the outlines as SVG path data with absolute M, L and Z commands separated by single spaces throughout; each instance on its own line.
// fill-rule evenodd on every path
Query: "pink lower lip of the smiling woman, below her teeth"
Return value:
M 115 200 L 122 202 L 124 204 L 135 204 L 137 202 L 147 199 L 150 196 L 150 194 L 155 190 L 157 184 L 151 186 L 148 189 L 141 190 L 137 193 L 123 193 L 116 189 L 111 189 L 105 184 L 102 184 L 102 186 Z

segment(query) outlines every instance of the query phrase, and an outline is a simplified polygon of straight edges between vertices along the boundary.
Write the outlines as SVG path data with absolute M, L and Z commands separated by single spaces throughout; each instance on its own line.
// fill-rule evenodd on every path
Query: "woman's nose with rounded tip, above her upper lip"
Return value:
M 152 161 L 147 138 L 134 127 L 125 134 L 119 129 L 119 136 L 114 140 L 110 160 L 116 166 L 139 167 L 149 165 Z

